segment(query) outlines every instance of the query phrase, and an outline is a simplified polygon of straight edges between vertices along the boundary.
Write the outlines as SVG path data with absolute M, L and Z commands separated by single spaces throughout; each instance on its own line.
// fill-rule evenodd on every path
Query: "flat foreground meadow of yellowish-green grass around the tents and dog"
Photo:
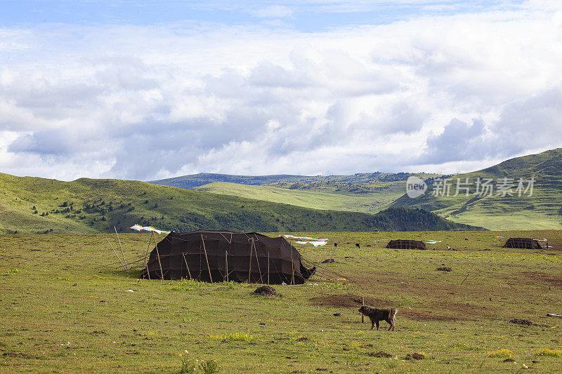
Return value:
M 345 281 L 320 279 L 320 268 L 310 284 L 258 297 L 255 284 L 139 280 L 149 234 L 121 235 L 129 273 L 103 234 L 2 235 L 0 372 L 180 373 L 187 359 L 221 373 L 562 370 L 562 319 L 546 316 L 562 314 L 560 232 L 301 234 L 330 239 L 299 247 L 313 261 L 339 243 L 326 274 Z M 501 248 L 496 236 L 554 248 Z M 386 239 L 440 243 L 388 250 Z M 396 332 L 360 323 L 362 297 L 398 307 Z

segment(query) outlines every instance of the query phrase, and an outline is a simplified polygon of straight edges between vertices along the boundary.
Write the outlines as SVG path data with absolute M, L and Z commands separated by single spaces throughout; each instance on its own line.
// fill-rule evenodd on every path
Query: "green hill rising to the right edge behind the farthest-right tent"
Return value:
M 426 193 L 415 199 L 401 196 L 392 206 L 423 208 L 438 213 L 442 217 L 470 225 L 481 225 L 488 229 L 562 229 L 562 148 L 552 149 L 540 154 L 517 157 L 481 171 L 452 175 L 450 196 L 434 196 L 443 190 L 429 185 Z M 453 196 L 457 188 L 457 178 L 466 182 L 469 178 L 469 196 L 466 190 Z M 492 196 L 476 194 L 478 178 L 492 180 Z M 508 180 L 504 180 L 508 178 Z M 519 178 L 527 188 L 529 180 L 535 179 L 530 189 L 521 196 L 518 192 Z M 509 196 L 497 187 L 504 182 L 511 187 Z M 462 186 L 461 186 L 462 187 Z M 482 192 L 482 188 L 479 189 Z M 446 195 L 446 194 L 445 194 Z

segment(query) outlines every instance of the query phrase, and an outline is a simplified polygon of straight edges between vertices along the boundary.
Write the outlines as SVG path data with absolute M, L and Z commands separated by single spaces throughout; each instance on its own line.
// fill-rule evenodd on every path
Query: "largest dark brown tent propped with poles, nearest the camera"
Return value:
M 141 277 L 301 284 L 315 272 L 282 236 L 255 232 L 171 232 L 150 253 Z

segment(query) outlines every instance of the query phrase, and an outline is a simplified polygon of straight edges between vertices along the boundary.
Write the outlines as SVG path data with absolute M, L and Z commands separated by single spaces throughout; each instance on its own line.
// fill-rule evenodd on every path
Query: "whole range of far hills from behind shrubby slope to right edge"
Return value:
M 423 196 L 410 199 L 406 180 L 417 176 L 428 182 Z M 451 180 L 489 178 L 495 184 L 502 178 L 535 178 L 533 196 L 433 196 L 436 178 Z M 227 183 L 225 183 L 227 182 Z M 265 175 L 244 176 L 197 174 L 155 181 L 182 188 L 287 202 L 308 208 L 377 213 L 391 206 L 421 208 L 469 225 L 490 229 L 562 229 L 562 149 L 516 157 L 481 171 L 457 175 L 429 173 L 359 173 L 355 175 Z M 236 185 L 233 185 L 235 183 Z M 266 188 L 267 187 L 267 188 Z M 274 189 L 277 187 L 277 189 Z M 455 186 L 456 187 L 456 186 Z M 292 193 L 292 191 L 294 193 Z M 454 190 L 453 193 L 454 194 Z M 323 194 L 323 195 L 322 195 Z M 327 196 L 326 194 L 332 194 Z

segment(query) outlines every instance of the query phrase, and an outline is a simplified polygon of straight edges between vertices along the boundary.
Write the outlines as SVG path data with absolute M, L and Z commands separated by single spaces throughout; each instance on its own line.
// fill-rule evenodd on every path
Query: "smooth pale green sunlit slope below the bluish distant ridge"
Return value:
M 318 192 L 313 190 L 288 189 L 272 186 L 240 185 L 237 183 L 214 182 L 197 187 L 197 190 L 259 199 L 273 203 L 285 203 L 313 209 L 377 213 L 381 207 L 398 199 L 405 191 L 405 181 L 395 182 L 393 189 L 365 194 Z

